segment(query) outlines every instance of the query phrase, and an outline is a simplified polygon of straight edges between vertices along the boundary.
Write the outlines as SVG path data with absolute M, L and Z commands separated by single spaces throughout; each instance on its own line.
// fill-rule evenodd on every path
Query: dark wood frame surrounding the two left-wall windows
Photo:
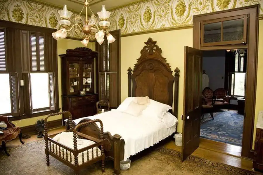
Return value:
M 55 29 L 32 26 L 27 24 L 20 24 L 16 22 L 9 22 L 0 20 L 0 28 L 4 28 L 6 31 L 6 73 L 17 76 L 17 87 L 19 90 L 19 111 L 18 115 L 10 115 L 10 120 L 21 120 L 26 118 L 32 118 L 49 113 L 58 112 L 58 58 L 57 58 L 57 41 L 52 38 L 52 33 Z M 30 34 L 44 36 L 44 57 L 45 57 L 45 71 L 32 71 L 31 69 L 31 54 L 30 54 Z M 38 66 L 39 68 L 39 66 Z M 49 87 L 49 92 L 52 88 L 53 102 L 52 105 L 47 108 L 30 109 L 29 88 L 25 87 L 29 85 L 28 76 L 33 72 L 52 72 L 53 86 Z M 50 78 L 50 77 L 49 77 Z M 24 80 L 24 86 L 20 86 L 20 80 Z M 12 103 L 12 102 L 11 102 Z M 12 106 L 11 106 L 12 108 Z

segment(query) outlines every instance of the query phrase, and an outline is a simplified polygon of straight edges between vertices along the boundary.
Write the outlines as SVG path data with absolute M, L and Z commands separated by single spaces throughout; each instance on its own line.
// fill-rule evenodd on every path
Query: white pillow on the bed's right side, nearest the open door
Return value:
M 151 115 L 152 117 L 163 119 L 165 112 L 170 109 L 172 109 L 171 106 L 150 99 L 150 104 L 142 111 L 142 115 Z

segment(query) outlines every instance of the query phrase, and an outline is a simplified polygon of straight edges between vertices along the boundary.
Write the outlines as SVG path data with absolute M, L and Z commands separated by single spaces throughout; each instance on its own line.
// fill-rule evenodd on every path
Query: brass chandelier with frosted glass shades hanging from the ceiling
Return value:
M 60 38 L 66 38 L 67 37 L 67 32 L 72 30 L 73 27 L 77 27 L 77 29 L 81 30 L 85 34 L 85 38 L 81 41 L 81 43 L 84 46 L 87 46 L 89 43 L 89 40 L 94 36 L 96 38 L 96 41 L 101 45 L 104 41 L 104 35 L 107 36 L 108 43 L 112 43 L 115 41 L 115 38 L 109 33 L 108 28 L 110 27 L 110 22 L 108 21 L 110 17 L 110 12 L 106 11 L 105 5 L 102 5 L 102 9 L 100 12 L 98 12 L 98 17 L 100 21 L 98 22 L 97 17 L 94 15 L 92 10 L 89 7 L 89 2 L 86 0 L 84 2 L 84 6 L 82 8 L 86 9 L 86 20 L 85 24 L 83 27 L 81 27 L 79 24 L 74 24 L 70 29 L 70 17 L 72 16 L 72 12 L 68 11 L 67 5 L 64 5 L 63 10 L 58 10 L 58 14 L 60 15 L 60 21 L 58 22 L 62 29 L 52 33 L 53 38 L 56 40 Z M 91 11 L 91 19 L 89 21 L 88 19 L 88 8 Z M 82 11 L 79 13 L 79 15 L 82 13 Z M 76 17 L 78 17 L 77 15 Z M 76 18 L 75 18 L 76 19 Z M 98 22 L 98 25 L 96 24 Z

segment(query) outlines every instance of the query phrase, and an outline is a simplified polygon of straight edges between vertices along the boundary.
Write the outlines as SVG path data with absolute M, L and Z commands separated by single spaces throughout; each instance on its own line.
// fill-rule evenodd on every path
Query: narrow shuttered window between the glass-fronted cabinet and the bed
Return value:
M 99 66 L 99 98 L 110 102 L 112 108 L 120 105 L 120 30 L 110 32 L 116 40 L 108 43 L 105 37 L 104 42 L 99 45 L 98 66 Z

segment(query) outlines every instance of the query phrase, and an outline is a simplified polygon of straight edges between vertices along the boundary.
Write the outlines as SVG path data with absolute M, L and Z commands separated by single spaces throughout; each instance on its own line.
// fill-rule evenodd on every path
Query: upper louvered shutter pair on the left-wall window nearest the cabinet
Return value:
M 44 34 L 30 33 L 31 72 L 44 72 L 46 70 L 44 43 Z

